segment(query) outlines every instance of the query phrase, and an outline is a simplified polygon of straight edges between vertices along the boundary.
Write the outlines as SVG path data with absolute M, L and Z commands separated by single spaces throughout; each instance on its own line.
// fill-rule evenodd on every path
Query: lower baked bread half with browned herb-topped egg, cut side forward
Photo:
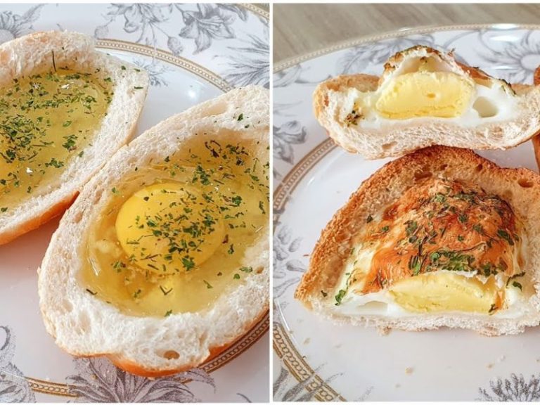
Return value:
M 295 297 L 379 328 L 540 322 L 540 176 L 435 146 L 388 163 L 323 230 Z

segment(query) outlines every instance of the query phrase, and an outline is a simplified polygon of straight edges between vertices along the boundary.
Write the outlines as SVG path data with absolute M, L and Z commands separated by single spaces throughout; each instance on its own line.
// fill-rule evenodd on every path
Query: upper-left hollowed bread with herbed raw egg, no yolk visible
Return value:
M 61 214 L 124 145 L 148 74 L 74 32 L 0 45 L 0 244 Z

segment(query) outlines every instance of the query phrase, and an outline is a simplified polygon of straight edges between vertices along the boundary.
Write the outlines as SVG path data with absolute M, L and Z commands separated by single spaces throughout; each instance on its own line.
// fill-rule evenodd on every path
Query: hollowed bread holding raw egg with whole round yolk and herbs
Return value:
M 118 151 L 39 270 L 57 344 L 131 373 L 200 365 L 269 307 L 268 92 L 236 89 Z

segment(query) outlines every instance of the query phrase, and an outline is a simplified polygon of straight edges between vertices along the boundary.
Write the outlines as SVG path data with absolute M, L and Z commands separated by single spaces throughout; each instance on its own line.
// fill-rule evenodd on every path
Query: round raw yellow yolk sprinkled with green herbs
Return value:
M 203 264 L 224 239 L 219 207 L 196 188 L 172 182 L 131 195 L 118 212 L 115 229 L 129 261 L 160 275 Z

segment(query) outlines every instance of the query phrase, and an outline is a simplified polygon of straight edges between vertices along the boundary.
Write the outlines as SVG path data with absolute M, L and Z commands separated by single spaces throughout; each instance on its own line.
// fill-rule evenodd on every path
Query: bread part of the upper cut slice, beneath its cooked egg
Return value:
M 408 51 L 425 49 L 428 53 L 441 55 L 426 48 L 415 47 Z M 398 57 L 399 56 L 399 57 Z M 528 141 L 540 131 L 540 86 L 512 84 L 518 105 L 515 119 L 508 122 L 484 122 L 476 127 L 461 127 L 450 121 L 425 117 L 420 121 L 395 121 L 380 129 L 347 126 L 338 119 L 340 103 L 344 103 L 348 89 L 361 92 L 376 91 L 381 80 L 395 69 L 402 54 L 394 56 L 385 65 L 381 77 L 372 75 L 342 75 L 319 84 L 313 94 L 314 114 L 328 136 L 340 147 L 351 153 L 360 153 L 367 159 L 398 157 L 414 150 L 434 145 L 459 148 L 508 149 Z M 445 56 L 446 59 L 449 56 Z M 390 63 L 392 62 L 392 63 Z M 476 79 L 489 79 L 479 68 L 456 63 L 458 69 Z M 504 82 L 504 81 L 501 81 Z M 452 134 L 452 136 L 445 136 Z

